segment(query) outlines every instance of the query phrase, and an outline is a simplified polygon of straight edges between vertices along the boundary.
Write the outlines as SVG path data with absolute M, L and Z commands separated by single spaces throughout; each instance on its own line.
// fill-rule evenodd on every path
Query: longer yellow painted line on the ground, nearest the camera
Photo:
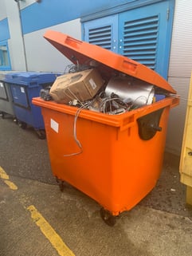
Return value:
M 61 237 L 53 230 L 53 227 L 43 218 L 43 216 L 37 211 L 37 209 L 31 205 L 27 207 L 27 210 L 31 213 L 31 218 L 40 227 L 41 232 L 48 238 L 52 246 L 57 250 L 57 253 L 61 256 L 75 256 L 72 250 L 65 245 Z

